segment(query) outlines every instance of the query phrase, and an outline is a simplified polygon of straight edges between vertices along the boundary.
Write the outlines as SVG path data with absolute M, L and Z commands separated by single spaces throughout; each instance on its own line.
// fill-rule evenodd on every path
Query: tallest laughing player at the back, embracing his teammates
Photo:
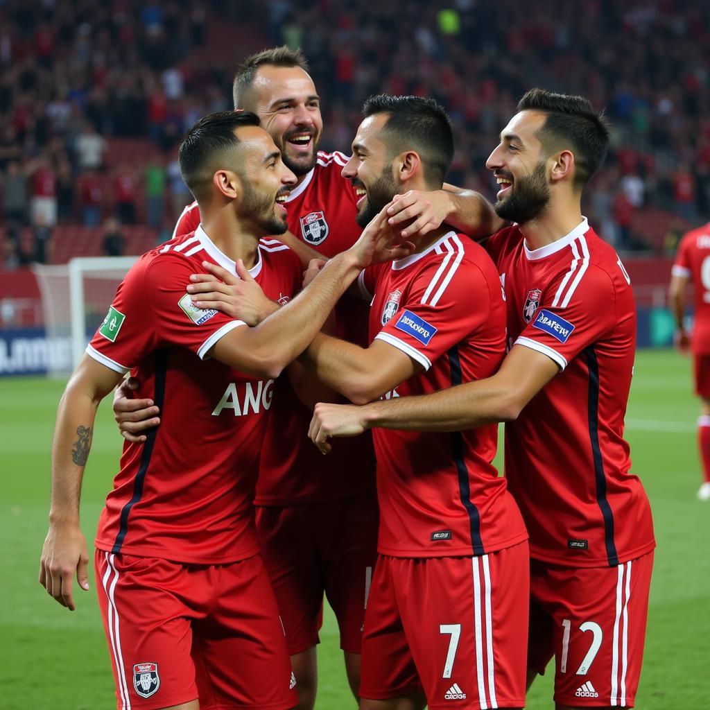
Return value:
M 279 47 L 247 58 L 236 72 L 233 93 L 234 107 L 259 116 L 285 165 L 296 175 L 296 185 L 283 203 L 295 236 L 287 233 L 279 239 L 300 253 L 304 263 L 349 249 L 362 229 L 356 222 L 356 203 L 364 188 L 341 175 L 345 155 L 318 151 L 320 97 L 302 53 Z M 416 217 L 403 230 L 403 238 L 427 234 L 444 220 L 488 234 L 496 217 L 486 202 L 474 192 L 441 187 L 411 190 L 401 197 L 405 214 Z M 197 203 L 188 205 L 174 236 L 199 224 Z M 197 283 L 190 290 L 199 297 L 204 288 L 212 286 Z M 226 296 L 229 290 L 224 287 L 224 292 Z M 367 314 L 366 304 L 359 300 L 346 297 L 339 302 L 339 337 L 366 345 Z M 119 394 L 126 394 L 125 388 Z M 140 409 L 146 410 L 134 411 Z M 114 410 L 129 438 L 140 437 L 142 427 L 159 421 L 158 408 L 143 400 L 118 398 Z M 324 593 L 337 616 L 349 684 L 357 694 L 378 520 L 371 441 L 349 442 L 339 447 L 334 460 L 323 459 L 304 436 L 311 416 L 312 409 L 282 378 L 275 388 L 255 501 L 263 555 L 283 618 L 302 710 L 315 702 L 315 645 Z

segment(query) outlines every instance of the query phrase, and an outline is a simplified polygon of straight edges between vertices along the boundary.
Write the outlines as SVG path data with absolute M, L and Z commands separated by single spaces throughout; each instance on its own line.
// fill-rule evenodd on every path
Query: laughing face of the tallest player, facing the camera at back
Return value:
M 320 98 L 307 72 L 300 67 L 259 67 L 242 108 L 259 117 L 297 177 L 312 170 L 323 119 Z

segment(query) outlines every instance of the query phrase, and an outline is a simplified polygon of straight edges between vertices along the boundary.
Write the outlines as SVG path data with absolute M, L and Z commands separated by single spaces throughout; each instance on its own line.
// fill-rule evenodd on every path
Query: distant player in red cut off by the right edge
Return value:
M 700 398 L 698 448 L 703 482 L 697 496 L 710 501 L 710 222 L 683 236 L 671 271 L 668 301 L 675 317 L 678 349 L 693 352 L 695 393 Z M 695 320 L 692 338 L 685 329 L 688 283 L 695 291 Z

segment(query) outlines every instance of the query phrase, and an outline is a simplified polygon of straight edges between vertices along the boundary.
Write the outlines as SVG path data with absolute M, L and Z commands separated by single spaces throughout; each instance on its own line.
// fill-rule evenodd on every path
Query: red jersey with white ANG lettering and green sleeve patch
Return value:
M 273 380 L 259 380 L 207 352 L 244 322 L 190 303 L 185 287 L 207 259 L 234 262 L 198 228 L 141 256 L 119 286 L 87 348 L 136 396 L 160 407 L 143 444 L 124 444 L 97 532 L 100 550 L 176 562 L 221 564 L 258 552 L 253 496 Z M 302 267 L 283 245 L 260 244 L 250 273 L 274 300 L 290 297 Z

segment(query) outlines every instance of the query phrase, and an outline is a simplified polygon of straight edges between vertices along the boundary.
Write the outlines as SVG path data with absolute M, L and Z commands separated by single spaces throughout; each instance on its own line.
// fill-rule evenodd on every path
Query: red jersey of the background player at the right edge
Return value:
M 693 351 L 710 354 L 710 222 L 689 231 L 678 246 L 672 273 L 692 280 L 695 288 Z

